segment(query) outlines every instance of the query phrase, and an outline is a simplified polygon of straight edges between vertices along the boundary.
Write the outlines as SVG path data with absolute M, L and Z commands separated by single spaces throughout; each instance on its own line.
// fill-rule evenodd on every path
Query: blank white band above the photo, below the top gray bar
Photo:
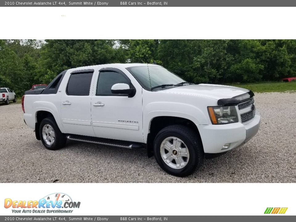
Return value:
M 295 39 L 295 7 L 2 7 L 1 39 Z

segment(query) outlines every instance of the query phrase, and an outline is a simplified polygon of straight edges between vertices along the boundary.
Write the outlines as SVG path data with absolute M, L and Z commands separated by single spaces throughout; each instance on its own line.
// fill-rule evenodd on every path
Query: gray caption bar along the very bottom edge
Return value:
M 98 221 L 98 222 L 204 222 L 204 221 L 227 221 L 227 222 L 291 222 L 296 216 L 268 215 L 268 216 L 0 216 L 0 221 Z

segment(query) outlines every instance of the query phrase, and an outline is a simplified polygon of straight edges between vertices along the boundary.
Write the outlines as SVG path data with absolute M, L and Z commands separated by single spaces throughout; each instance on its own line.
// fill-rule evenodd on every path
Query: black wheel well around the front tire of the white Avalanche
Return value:
M 180 117 L 168 117 L 168 116 L 162 116 L 162 117 L 155 117 L 152 119 L 150 123 L 150 129 L 149 129 L 149 134 L 147 137 L 147 154 L 148 157 L 153 156 L 153 143 L 156 135 L 160 130 L 163 128 L 169 126 L 169 125 L 185 125 L 189 127 L 191 130 L 193 130 L 199 137 L 200 139 L 200 134 L 197 129 L 197 126 L 195 125 L 194 122 L 191 120 L 185 119 L 185 118 L 180 118 Z

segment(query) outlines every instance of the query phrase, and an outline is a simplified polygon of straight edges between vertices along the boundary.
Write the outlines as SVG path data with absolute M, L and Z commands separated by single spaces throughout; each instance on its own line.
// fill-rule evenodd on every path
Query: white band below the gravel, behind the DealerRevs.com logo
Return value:
M 264 215 L 267 207 L 296 215 L 293 183 L 2 183 L 0 215 L 16 215 L 3 207 L 5 198 L 38 201 L 59 192 L 80 201 L 66 216 Z

